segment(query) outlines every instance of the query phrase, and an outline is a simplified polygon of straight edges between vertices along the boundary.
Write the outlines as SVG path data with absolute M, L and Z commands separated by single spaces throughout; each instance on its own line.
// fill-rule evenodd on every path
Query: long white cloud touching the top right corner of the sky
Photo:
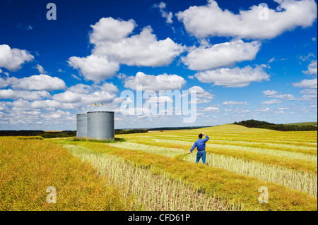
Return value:
M 187 32 L 197 38 L 209 36 L 271 39 L 297 27 L 307 28 L 317 18 L 314 0 L 274 0 L 276 9 L 251 6 L 235 14 L 220 8 L 216 1 L 205 6 L 191 6 L 177 13 Z M 266 14 L 266 17 L 262 15 Z

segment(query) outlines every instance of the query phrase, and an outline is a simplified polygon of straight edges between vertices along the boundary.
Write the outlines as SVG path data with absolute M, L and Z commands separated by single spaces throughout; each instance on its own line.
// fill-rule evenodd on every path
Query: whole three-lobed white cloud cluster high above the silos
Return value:
M 167 66 L 185 50 L 170 37 L 158 40 L 150 26 L 133 34 L 136 26 L 134 20 L 101 18 L 91 25 L 90 43 L 94 44 L 91 55 L 72 56 L 69 65 L 78 69 L 86 80 L 100 82 L 114 76 L 121 64 Z

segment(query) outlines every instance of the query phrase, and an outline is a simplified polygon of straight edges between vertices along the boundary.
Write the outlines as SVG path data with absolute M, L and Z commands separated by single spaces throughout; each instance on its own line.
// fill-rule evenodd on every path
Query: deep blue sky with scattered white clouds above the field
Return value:
M 75 130 L 93 102 L 115 128 L 317 121 L 314 0 L 4 0 L 0 21 L 1 130 Z M 196 90 L 196 120 L 122 114 L 136 85 Z

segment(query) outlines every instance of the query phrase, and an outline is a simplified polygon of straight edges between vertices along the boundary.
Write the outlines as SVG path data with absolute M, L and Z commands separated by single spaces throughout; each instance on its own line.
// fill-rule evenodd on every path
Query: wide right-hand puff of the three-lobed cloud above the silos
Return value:
M 167 66 L 184 47 L 167 37 L 157 40 L 150 26 L 143 28 L 140 34 L 123 39 L 98 42 L 93 54 L 101 54 L 129 66 Z

